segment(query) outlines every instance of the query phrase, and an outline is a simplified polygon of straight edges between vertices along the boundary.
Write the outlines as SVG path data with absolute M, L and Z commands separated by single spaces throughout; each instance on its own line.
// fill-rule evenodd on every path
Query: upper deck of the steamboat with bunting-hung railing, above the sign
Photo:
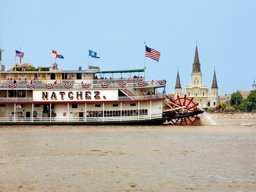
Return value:
M 64 71 L 59 69 L 49 71 L 15 71 L 14 69 L 14 71 L 0 71 L 0 89 L 116 89 L 124 87 L 163 87 L 166 83 L 164 80 L 146 82 L 145 77 L 139 76 L 141 72 L 144 72 L 144 69 L 119 71 Z M 113 78 L 114 73 L 120 73 L 120 78 Z M 138 73 L 138 76 L 131 76 L 134 73 Z M 124 74 L 126 74 L 126 77 L 122 76 Z

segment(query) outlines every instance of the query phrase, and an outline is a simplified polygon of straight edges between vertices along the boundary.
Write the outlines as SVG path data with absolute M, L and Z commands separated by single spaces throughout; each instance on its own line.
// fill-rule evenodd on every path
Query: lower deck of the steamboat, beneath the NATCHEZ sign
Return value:
M 1 104 L 0 123 L 133 122 L 161 119 L 162 100 L 111 103 Z

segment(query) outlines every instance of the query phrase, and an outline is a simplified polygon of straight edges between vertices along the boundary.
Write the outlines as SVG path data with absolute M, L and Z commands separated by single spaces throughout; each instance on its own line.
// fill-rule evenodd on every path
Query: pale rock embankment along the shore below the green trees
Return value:
M 208 113 L 214 119 L 255 119 L 256 113 Z

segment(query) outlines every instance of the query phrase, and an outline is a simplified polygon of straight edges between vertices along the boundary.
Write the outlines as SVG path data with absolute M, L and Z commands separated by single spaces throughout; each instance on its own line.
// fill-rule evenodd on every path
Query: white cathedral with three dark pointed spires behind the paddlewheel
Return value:
M 184 97 L 187 95 L 188 98 L 194 98 L 195 103 L 199 103 L 199 107 L 216 107 L 219 105 L 218 97 L 218 85 L 216 80 L 216 74 L 214 69 L 212 87 L 211 90 L 207 89 L 206 85 L 202 85 L 202 73 L 201 73 L 201 63 L 199 62 L 197 46 L 195 52 L 195 59 L 193 63 L 192 73 L 191 73 L 191 84 L 186 86 L 186 91 L 182 92 L 182 87 L 180 85 L 179 70 L 177 73 L 176 84 L 175 84 L 175 98 Z

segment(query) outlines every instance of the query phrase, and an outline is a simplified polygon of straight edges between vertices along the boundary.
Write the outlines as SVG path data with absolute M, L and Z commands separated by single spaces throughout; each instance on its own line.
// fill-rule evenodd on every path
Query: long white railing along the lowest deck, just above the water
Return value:
M 162 114 L 141 115 L 141 116 L 118 116 L 118 117 L 1 117 L 0 123 L 58 123 L 58 122 L 123 122 L 123 121 L 140 121 L 149 119 L 162 118 Z

